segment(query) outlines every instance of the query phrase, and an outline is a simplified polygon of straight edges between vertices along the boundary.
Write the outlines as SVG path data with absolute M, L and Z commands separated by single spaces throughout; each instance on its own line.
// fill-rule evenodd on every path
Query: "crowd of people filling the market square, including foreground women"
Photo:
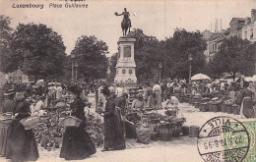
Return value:
M 138 94 L 128 106 L 129 91 L 122 84 L 102 83 L 94 88 L 96 91 L 96 112 L 103 119 L 104 146 L 102 151 L 125 149 L 125 124 L 129 122 L 125 116 L 131 111 L 144 112 L 146 109 L 160 110 L 169 105 L 176 110 L 176 116 L 183 118 L 182 96 L 201 93 L 209 96 L 218 91 L 220 97 L 225 96 L 233 103 L 242 105 L 243 99 L 255 99 L 255 82 L 247 81 L 146 81 L 137 85 Z M 43 109 L 52 106 L 57 100 L 63 100 L 66 95 L 72 96 L 71 115 L 82 120 L 78 128 L 66 128 L 60 157 L 67 160 L 84 159 L 96 153 L 96 147 L 85 131 L 85 101 L 89 94 L 89 86 L 81 84 L 64 85 L 58 82 L 41 82 L 5 85 L 0 88 L 0 113 L 11 115 L 13 120 L 1 120 L 0 154 L 12 161 L 35 161 L 39 154 L 32 130 L 26 130 L 21 120 L 31 116 L 40 116 Z M 253 110 L 243 110 L 246 118 L 251 118 Z

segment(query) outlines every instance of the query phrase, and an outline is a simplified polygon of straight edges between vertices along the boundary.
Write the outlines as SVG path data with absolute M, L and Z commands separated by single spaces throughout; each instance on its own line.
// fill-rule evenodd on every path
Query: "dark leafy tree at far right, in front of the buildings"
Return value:
M 214 73 L 229 73 L 233 80 L 236 73 L 249 76 L 254 73 L 256 43 L 237 37 L 224 39 L 220 51 L 213 58 Z

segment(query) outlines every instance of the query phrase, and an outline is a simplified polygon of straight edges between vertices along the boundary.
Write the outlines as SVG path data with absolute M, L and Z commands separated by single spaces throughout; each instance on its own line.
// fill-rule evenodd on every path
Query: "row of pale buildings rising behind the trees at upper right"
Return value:
M 205 56 L 207 61 L 213 59 L 213 56 L 219 51 L 224 38 L 237 36 L 242 39 L 248 39 L 251 42 L 256 41 L 256 9 L 251 10 L 251 18 L 233 18 L 229 27 L 221 31 L 211 32 L 204 30 L 202 32 L 207 42 Z M 256 64 L 255 64 L 256 66 Z

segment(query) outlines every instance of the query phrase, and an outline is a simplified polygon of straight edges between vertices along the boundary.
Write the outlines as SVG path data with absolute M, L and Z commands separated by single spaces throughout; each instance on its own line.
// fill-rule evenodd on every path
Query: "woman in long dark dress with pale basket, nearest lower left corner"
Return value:
M 14 106 L 15 120 L 10 126 L 7 156 L 12 161 L 36 161 L 39 157 L 37 145 L 32 130 L 25 130 L 20 123 L 22 119 L 31 116 L 30 103 L 25 101 L 23 92 L 16 92 Z

